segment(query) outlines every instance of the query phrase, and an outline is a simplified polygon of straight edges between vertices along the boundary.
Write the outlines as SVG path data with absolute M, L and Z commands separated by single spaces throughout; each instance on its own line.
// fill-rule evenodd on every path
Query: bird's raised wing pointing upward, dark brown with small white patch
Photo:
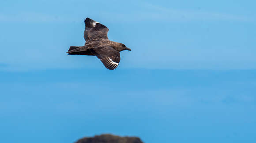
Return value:
M 108 39 L 108 31 L 109 29 L 105 26 L 96 22 L 90 18 L 86 18 L 84 20 L 85 30 L 84 30 L 84 39 L 87 41 L 93 38 L 104 38 Z

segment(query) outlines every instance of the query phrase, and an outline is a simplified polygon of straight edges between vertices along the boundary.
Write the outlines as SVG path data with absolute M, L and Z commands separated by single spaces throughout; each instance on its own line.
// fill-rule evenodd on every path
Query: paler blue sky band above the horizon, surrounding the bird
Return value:
M 255 1 L 1 3 L 1 52 L 8 54 L 0 62 L 9 65 L 4 70 L 102 68 L 95 57 L 65 55 L 69 46 L 84 44 L 86 17 L 102 22 L 109 39 L 132 49 L 121 53 L 119 68 L 256 68 Z

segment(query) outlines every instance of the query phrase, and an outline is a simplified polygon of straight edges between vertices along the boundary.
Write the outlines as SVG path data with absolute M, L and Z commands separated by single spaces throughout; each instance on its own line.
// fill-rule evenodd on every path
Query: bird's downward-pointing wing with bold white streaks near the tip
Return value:
M 120 53 L 112 46 L 100 46 L 90 49 L 90 52 L 97 56 L 109 70 L 117 68 L 120 62 Z

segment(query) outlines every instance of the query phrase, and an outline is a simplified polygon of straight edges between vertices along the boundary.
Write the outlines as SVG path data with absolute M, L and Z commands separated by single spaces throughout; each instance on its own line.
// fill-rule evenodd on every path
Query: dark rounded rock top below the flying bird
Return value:
M 114 136 L 111 134 L 103 134 L 94 137 L 84 137 L 75 143 L 143 143 L 138 137 Z

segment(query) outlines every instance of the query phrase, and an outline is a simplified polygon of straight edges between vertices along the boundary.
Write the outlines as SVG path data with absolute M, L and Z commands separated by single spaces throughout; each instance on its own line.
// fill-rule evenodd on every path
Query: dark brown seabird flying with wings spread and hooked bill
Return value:
M 70 46 L 69 55 L 90 55 L 97 56 L 102 61 L 106 68 L 114 70 L 120 62 L 120 51 L 129 50 L 122 43 L 110 41 L 108 38 L 109 29 L 101 23 L 90 18 L 84 20 L 85 30 L 84 46 Z

